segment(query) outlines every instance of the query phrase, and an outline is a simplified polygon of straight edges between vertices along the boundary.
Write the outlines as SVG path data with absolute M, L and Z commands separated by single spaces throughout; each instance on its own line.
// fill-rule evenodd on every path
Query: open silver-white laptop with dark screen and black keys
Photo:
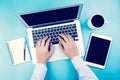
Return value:
M 83 4 L 66 6 L 51 10 L 19 14 L 19 19 L 26 25 L 32 62 L 36 61 L 36 42 L 43 37 L 50 37 L 54 46 L 53 55 L 49 61 L 67 59 L 60 50 L 59 34 L 69 34 L 73 37 L 81 56 L 84 55 L 81 26 L 79 22 Z

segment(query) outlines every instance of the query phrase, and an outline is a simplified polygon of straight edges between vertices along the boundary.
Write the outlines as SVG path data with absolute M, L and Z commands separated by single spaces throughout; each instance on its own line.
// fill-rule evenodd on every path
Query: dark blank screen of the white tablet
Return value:
M 110 43 L 110 40 L 92 36 L 86 61 L 104 66 Z

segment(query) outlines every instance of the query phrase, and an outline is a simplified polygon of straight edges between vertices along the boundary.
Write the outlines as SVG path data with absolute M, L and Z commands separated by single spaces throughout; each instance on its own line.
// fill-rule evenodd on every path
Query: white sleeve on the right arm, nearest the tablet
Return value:
M 80 56 L 74 57 L 72 63 L 79 74 L 79 80 L 98 80 Z

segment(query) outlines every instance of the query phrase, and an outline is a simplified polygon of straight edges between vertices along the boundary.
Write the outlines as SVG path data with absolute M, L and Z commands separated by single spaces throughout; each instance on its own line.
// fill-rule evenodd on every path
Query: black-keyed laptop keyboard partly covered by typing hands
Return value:
M 59 40 L 57 37 L 59 34 L 69 34 L 73 37 L 75 41 L 78 40 L 76 24 L 68 24 L 68 25 L 56 26 L 51 28 L 33 30 L 32 37 L 33 37 L 34 47 L 36 47 L 37 41 L 43 37 L 50 37 L 53 45 L 58 44 Z

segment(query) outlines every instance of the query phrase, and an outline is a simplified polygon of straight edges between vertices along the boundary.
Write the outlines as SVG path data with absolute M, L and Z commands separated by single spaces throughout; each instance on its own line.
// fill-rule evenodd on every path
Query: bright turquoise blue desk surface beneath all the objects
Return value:
M 84 3 L 81 26 L 86 51 L 91 32 L 113 38 L 106 68 L 104 70 L 90 67 L 99 80 L 120 80 L 120 1 L 119 0 L 0 0 L 0 80 L 30 80 L 34 66 L 26 62 L 12 65 L 6 42 L 26 37 L 26 28 L 16 14 L 50 9 L 71 4 Z M 87 26 L 88 18 L 100 13 L 109 24 L 102 29 L 91 30 Z M 46 80 L 77 80 L 78 75 L 70 60 L 59 60 L 48 63 Z

